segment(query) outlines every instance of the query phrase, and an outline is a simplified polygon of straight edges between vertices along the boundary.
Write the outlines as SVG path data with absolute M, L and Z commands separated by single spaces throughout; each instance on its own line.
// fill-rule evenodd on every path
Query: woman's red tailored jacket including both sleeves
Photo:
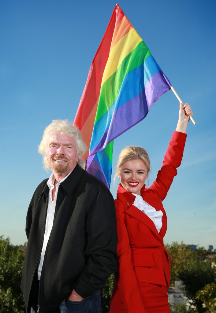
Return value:
M 170 283 L 169 255 L 163 244 L 167 218 L 162 201 L 177 174 L 176 168 L 181 164 L 186 137 L 184 133 L 173 132 L 156 180 L 149 188 L 144 185 L 141 189 L 142 198 L 163 212 L 160 233 L 152 220 L 133 205 L 135 196 L 119 184 L 115 200 L 119 257 L 115 276 L 118 288 L 115 286 L 113 290 L 111 313 L 122 312 L 122 306 L 126 312 L 145 312 L 137 281 L 165 286 Z

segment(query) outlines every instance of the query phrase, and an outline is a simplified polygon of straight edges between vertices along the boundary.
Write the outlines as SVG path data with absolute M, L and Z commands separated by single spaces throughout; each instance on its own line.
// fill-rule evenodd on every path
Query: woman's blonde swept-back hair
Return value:
M 139 146 L 128 146 L 122 149 L 122 151 L 119 154 L 118 163 L 116 166 L 116 174 L 114 177 L 114 183 L 116 180 L 116 177 L 119 175 L 120 167 L 124 164 L 124 162 L 134 160 L 134 159 L 140 159 L 143 161 L 145 166 L 147 167 L 147 179 L 149 180 L 149 172 L 150 172 L 150 159 L 147 151 Z

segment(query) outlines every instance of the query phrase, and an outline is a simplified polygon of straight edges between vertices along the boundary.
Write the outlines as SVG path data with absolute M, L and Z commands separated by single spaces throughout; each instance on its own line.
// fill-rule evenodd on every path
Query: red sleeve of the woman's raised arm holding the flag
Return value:
M 157 178 L 149 187 L 149 190 L 157 193 L 161 201 L 166 198 L 174 176 L 177 175 L 176 168 L 181 165 L 182 156 L 187 134 L 174 131 L 169 146 L 164 156 L 163 165 L 157 173 Z

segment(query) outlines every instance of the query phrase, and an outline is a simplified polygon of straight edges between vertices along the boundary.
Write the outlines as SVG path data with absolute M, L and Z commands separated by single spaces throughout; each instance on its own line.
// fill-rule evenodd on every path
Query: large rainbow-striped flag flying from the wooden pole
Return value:
M 139 123 L 171 88 L 117 4 L 92 61 L 74 124 L 88 146 L 86 170 L 109 187 L 113 140 Z

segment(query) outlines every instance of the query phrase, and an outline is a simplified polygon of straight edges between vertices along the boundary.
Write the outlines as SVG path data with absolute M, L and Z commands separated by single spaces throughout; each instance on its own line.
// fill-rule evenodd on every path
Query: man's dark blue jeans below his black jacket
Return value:
M 101 290 L 96 290 L 81 301 L 64 300 L 59 310 L 41 311 L 39 313 L 102 313 L 102 298 Z M 31 313 L 37 313 L 37 306 L 31 308 Z

